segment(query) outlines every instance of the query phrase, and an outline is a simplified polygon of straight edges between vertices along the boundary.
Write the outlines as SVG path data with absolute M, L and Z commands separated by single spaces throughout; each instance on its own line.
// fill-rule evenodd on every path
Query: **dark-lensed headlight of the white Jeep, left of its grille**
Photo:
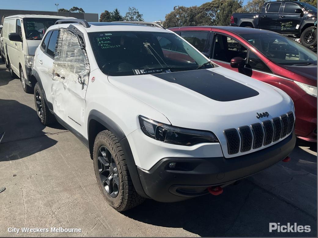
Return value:
M 211 131 L 201 131 L 175 127 L 139 116 L 140 126 L 147 136 L 166 143 L 177 145 L 195 145 L 199 143 L 219 143 Z

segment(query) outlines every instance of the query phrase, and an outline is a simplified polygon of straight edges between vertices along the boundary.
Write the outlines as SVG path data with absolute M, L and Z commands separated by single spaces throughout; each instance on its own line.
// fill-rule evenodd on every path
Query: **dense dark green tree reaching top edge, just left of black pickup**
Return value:
M 231 16 L 239 8 L 242 8 L 243 0 L 224 0 L 217 12 L 217 24 L 227 26 L 230 24 Z

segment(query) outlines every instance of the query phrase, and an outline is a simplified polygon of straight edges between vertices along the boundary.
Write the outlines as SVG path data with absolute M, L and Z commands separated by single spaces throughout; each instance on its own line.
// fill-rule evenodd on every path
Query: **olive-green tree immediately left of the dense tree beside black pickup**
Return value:
M 216 25 L 217 12 L 223 2 L 224 0 L 213 0 L 211 2 L 203 3 L 198 7 L 196 21 L 200 25 Z

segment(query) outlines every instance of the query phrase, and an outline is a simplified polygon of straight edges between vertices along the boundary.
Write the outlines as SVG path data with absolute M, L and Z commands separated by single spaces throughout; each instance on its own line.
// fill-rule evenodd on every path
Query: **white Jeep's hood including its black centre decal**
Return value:
M 108 76 L 108 80 L 160 111 L 174 126 L 212 131 L 222 148 L 226 148 L 223 130 L 294 111 L 292 100 L 280 89 L 223 67 Z M 263 112 L 269 116 L 257 118 L 257 113 Z M 223 152 L 226 157 L 238 155 L 228 155 L 224 149 Z

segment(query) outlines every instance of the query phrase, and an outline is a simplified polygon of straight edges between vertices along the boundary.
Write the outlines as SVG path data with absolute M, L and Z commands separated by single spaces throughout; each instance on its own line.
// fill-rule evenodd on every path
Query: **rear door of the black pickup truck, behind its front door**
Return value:
M 267 3 L 264 11 L 259 14 L 259 29 L 276 31 L 282 2 Z

